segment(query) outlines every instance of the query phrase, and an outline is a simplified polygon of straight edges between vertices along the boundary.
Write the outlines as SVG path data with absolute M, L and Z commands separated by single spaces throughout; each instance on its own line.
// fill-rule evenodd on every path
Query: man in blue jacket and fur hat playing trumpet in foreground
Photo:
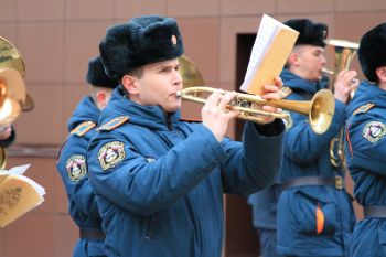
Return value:
M 180 119 L 182 36 L 172 18 L 144 15 L 108 29 L 99 44 L 120 82 L 101 113 L 87 159 L 108 256 L 221 257 L 223 193 L 247 195 L 277 176 L 281 119 L 247 121 L 244 142 L 225 137 L 236 93 L 216 90 L 203 122 Z M 280 99 L 276 85 L 262 97 Z M 277 108 L 262 106 L 272 113 Z

